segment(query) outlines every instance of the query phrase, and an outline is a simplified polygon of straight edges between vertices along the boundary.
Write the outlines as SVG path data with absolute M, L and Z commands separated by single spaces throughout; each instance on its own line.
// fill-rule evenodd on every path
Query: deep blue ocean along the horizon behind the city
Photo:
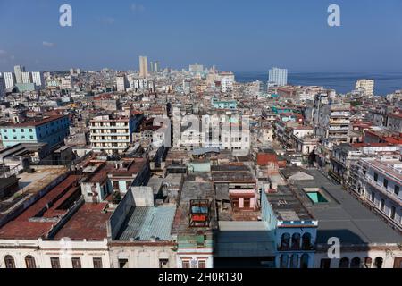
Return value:
M 267 72 L 235 72 L 236 81 L 267 81 Z M 322 86 L 335 89 L 339 93 L 348 93 L 355 89 L 356 80 L 375 80 L 375 94 L 385 96 L 402 89 L 402 72 L 292 72 L 288 75 L 291 85 Z

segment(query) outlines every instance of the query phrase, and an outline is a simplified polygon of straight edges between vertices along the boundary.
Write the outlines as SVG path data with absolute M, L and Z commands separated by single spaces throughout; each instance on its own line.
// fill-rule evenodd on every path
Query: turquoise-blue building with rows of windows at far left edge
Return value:
M 4 147 L 19 143 L 47 143 L 51 148 L 70 134 L 69 126 L 67 116 L 54 115 L 21 123 L 5 123 L 0 126 L 0 134 Z

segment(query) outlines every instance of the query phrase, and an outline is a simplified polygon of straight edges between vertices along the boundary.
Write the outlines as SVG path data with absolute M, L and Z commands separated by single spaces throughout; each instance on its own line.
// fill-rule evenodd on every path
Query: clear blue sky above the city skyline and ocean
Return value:
M 341 27 L 327 24 L 330 4 Z M 0 71 L 134 70 L 138 55 L 172 68 L 402 71 L 402 1 L 0 0 Z

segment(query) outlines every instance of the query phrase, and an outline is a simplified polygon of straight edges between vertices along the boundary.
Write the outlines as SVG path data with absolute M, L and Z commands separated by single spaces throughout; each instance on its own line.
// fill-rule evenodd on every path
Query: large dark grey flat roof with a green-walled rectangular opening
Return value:
M 318 170 L 306 170 L 314 180 L 295 181 L 298 194 L 307 209 L 318 220 L 317 243 L 327 243 L 338 237 L 342 244 L 400 243 L 402 235 L 381 217 L 373 214 L 355 197 L 322 175 Z M 320 188 L 329 202 L 313 204 L 303 189 Z

